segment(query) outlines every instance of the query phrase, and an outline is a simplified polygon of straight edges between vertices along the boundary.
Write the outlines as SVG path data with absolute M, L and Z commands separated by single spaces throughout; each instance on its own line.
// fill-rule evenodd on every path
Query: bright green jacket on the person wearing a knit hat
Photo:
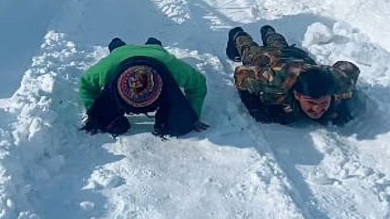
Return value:
M 176 58 L 159 45 L 124 45 L 91 66 L 81 76 L 79 83 L 79 96 L 86 109 L 93 105 L 106 84 L 114 79 L 115 69 L 119 63 L 133 56 L 147 56 L 164 63 L 179 87 L 184 89 L 194 111 L 198 116 L 201 115 L 207 93 L 206 78 L 191 65 Z

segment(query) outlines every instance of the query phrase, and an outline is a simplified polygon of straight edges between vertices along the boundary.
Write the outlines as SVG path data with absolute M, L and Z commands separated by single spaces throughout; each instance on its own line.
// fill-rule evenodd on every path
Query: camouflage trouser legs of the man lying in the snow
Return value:
M 252 37 L 248 34 L 242 34 L 236 38 L 236 47 L 241 56 L 243 65 L 258 65 L 261 66 L 262 62 L 269 61 L 263 60 L 261 57 L 266 50 L 275 51 L 288 47 L 287 41 L 280 33 L 270 33 L 263 41 L 263 46 L 259 46 L 255 43 Z M 260 63 L 258 63 L 260 62 Z

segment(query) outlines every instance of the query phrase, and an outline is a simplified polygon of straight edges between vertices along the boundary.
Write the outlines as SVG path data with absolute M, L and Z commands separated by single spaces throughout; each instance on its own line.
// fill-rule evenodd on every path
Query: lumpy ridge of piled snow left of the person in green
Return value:
M 35 209 L 33 194 L 63 166 L 60 147 L 74 138 L 80 107 L 75 85 L 90 63 L 77 52 L 64 34 L 50 31 L 41 46 L 40 56 L 32 59 L 21 87 L 10 98 L 7 112 L 17 115 L 2 131 L 1 218 L 41 218 Z M 85 62 L 75 62 L 80 57 Z M 45 217 L 44 217 L 45 218 Z

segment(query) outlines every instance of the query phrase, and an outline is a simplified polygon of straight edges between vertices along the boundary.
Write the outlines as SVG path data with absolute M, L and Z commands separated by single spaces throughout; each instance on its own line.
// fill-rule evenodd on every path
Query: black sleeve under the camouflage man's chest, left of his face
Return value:
M 241 101 L 248 109 L 249 114 L 261 123 L 290 123 L 291 116 L 283 112 L 278 105 L 264 105 L 261 99 L 248 91 L 239 91 Z

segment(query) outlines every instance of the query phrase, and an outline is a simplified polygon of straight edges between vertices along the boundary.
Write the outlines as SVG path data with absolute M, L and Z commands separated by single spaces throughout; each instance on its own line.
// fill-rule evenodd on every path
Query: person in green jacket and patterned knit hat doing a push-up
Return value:
M 145 45 L 127 45 L 115 38 L 109 50 L 81 76 L 79 96 L 87 111 L 82 130 L 116 136 L 131 127 L 125 113 L 155 111 L 156 135 L 179 136 L 209 127 L 200 121 L 205 77 L 170 54 L 160 41 L 149 38 Z

